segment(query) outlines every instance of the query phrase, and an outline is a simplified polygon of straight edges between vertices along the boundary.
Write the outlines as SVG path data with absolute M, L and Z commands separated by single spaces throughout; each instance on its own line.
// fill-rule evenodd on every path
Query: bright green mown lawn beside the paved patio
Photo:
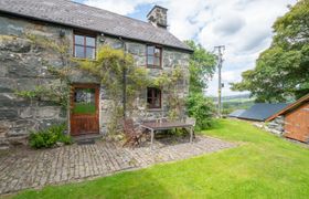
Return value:
M 15 198 L 308 198 L 309 150 L 251 124 L 220 121 L 205 135 L 239 146 Z

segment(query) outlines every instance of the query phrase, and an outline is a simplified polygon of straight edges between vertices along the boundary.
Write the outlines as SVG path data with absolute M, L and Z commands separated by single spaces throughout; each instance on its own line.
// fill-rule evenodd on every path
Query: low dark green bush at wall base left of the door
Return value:
M 53 125 L 46 129 L 39 132 L 31 132 L 29 137 L 29 144 L 33 148 L 51 148 L 57 142 L 65 145 L 73 143 L 71 136 L 64 135 L 66 125 Z

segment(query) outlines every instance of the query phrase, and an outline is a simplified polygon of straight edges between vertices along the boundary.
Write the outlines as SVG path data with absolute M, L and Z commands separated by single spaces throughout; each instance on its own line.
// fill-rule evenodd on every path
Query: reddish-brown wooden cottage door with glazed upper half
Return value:
M 99 86 L 75 84 L 71 91 L 71 135 L 98 134 Z

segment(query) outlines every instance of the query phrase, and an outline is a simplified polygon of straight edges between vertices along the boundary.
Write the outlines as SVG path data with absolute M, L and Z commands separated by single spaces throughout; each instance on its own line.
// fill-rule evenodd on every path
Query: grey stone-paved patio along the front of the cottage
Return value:
M 196 136 L 193 144 L 188 139 L 156 140 L 152 149 L 149 143 L 132 149 L 110 142 L 96 142 L 44 150 L 12 150 L 0 155 L 0 195 L 107 176 L 235 146 L 216 138 Z

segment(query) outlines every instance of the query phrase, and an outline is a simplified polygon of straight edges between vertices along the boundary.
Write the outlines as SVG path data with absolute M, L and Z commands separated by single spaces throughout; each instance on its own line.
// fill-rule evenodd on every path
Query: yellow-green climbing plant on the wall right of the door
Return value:
M 113 96 L 109 106 L 109 132 L 115 132 L 122 119 L 122 91 L 124 73 L 126 73 L 127 87 L 127 109 L 128 116 L 136 108 L 135 101 L 148 86 L 160 87 L 169 96 L 169 116 L 178 118 L 183 109 L 184 100 L 179 96 L 181 87 L 175 86 L 179 81 L 184 78 L 181 67 L 175 66 L 171 72 L 162 71 L 160 75 L 152 77 L 147 69 L 134 64 L 134 57 L 122 50 L 115 50 L 109 45 L 104 45 L 98 50 L 96 61 L 79 61 L 79 67 L 98 76 L 105 86 L 106 94 Z

